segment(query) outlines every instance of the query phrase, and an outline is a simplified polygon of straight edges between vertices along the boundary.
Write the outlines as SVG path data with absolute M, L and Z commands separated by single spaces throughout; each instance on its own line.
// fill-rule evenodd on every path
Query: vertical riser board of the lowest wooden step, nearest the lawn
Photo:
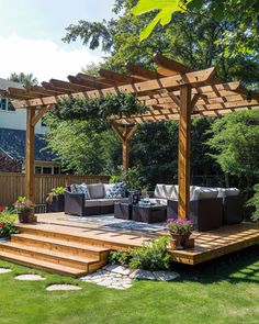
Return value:
M 58 264 L 58 265 L 61 265 L 65 267 L 81 269 L 81 270 L 85 270 L 86 272 L 88 272 L 88 266 L 89 266 L 88 262 L 71 260 L 71 259 L 69 259 L 69 257 L 66 259 L 64 257 L 45 255 L 42 253 L 31 252 L 31 250 L 26 250 L 23 248 L 16 248 L 13 246 L 8 246 L 8 245 L 5 245 L 5 246 L 1 245 L 0 250 L 12 253 L 15 255 L 21 255 L 24 257 L 31 257 L 31 258 L 43 260 L 43 261 Z

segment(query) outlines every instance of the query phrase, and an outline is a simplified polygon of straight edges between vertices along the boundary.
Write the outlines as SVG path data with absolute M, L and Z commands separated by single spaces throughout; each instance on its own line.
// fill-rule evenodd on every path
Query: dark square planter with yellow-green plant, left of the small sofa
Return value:
M 48 193 L 46 198 L 46 212 L 64 212 L 65 211 L 65 187 L 57 187 Z

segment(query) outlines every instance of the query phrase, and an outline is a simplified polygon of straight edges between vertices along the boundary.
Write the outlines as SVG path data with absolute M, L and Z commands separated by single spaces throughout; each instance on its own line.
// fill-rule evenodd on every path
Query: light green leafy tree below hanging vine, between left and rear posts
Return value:
M 60 121 L 46 115 L 47 148 L 58 156 L 65 171 L 100 175 L 110 169 L 110 149 L 116 139 L 105 123 Z

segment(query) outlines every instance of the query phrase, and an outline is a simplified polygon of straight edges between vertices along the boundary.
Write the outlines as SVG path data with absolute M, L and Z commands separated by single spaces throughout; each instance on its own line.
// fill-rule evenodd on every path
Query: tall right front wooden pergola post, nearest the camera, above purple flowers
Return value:
M 188 86 L 180 88 L 180 120 L 178 145 L 178 219 L 190 217 L 190 153 L 191 153 L 191 113 L 192 89 Z

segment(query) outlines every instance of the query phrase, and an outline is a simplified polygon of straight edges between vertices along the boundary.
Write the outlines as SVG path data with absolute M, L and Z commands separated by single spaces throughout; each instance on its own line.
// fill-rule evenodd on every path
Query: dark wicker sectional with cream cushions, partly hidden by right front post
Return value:
M 190 187 L 190 219 L 195 231 L 204 232 L 243 221 L 243 198 L 236 188 Z M 178 186 L 157 185 L 153 203 L 167 205 L 167 217 L 178 217 Z

